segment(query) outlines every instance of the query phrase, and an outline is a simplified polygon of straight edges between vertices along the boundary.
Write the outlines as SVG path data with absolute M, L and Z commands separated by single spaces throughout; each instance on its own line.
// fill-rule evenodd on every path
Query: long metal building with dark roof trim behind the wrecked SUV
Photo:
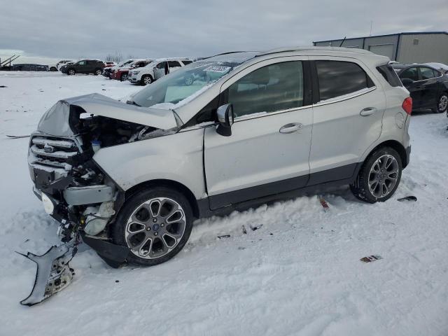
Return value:
M 342 45 L 341 45 L 342 43 Z M 448 64 L 448 33 L 427 31 L 315 41 L 314 45 L 362 48 L 403 63 L 438 62 Z

